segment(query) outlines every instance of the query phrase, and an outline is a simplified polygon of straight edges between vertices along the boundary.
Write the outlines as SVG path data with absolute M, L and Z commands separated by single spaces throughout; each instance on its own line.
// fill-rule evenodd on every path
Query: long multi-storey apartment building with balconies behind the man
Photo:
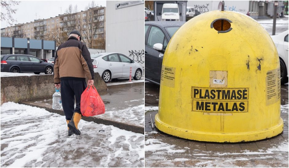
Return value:
M 88 48 L 105 49 L 105 21 L 106 7 L 97 6 L 3 28 L 1 37 L 55 40 L 59 46 L 68 39 L 69 32 L 77 29 Z

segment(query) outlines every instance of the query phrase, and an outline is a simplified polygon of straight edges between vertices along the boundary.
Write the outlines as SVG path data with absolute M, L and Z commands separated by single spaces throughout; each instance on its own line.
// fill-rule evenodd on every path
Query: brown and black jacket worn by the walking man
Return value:
M 94 78 L 90 53 L 83 42 L 71 36 L 56 51 L 54 59 L 54 83 L 60 83 L 60 79 L 84 81 L 85 78 Z

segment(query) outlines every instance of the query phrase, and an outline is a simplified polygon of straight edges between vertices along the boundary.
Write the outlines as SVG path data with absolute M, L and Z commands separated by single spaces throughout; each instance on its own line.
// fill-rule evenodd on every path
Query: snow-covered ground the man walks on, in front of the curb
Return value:
M 65 116 L 13 102 L 1 105 L 2 167 L 143 167 L 144 135 L 81 120 L 67 136 Z

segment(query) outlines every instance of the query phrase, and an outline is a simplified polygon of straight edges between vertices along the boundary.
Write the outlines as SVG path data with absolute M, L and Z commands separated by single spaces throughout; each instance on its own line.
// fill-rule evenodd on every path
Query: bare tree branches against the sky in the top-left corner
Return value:
M 1 8 L 6 10 L 6 13 L 1 11 L 1 20 L 7 21 L 9 25 L 12 25 L 16 21 L 12 14 L 16 13 L 17 9 L 12 9 L 12 6 L 19 5 L 20 1 L 1 1 Z

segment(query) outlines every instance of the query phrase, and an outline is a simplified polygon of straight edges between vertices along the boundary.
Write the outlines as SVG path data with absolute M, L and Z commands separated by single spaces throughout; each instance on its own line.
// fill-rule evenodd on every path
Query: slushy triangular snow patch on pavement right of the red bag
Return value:
M 106 111 L 104 114 L 95 116 L 106 120 L 126 122 L 132 125 L 144 126 L 144 104 L 129 107 L 123 110 Z

